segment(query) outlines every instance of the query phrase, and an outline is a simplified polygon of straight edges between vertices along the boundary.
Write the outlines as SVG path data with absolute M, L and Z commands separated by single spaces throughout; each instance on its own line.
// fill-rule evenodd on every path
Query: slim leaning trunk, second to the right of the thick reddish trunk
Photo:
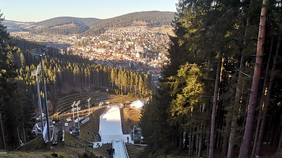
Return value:
M 273 88 L 273 84 L 274 84 L 274 77 L 275 77 L 275 73 L 274 71 L 276 70 L 276 64 L 277 64 L 277 59 L 278 59 L 278 52 L 279 52 L 279 48 L 280 48 L 280 43 L 281 43 L 281 36 L 278 39 L 278 43 L 277 43 L 277 48 L 276 48 L 276 52 L 275 52 L 275 56 L 273 58 L 273 67 L 272 67 L 272 73 L 271 73 L 271 77 L 270 77 L 270 81 L 269 81 L 269 86 L 268 86 L 268 90 L 267 90 L 267 95 L 266 95 L 266 99 L 265 99 L 265 105 L 263 107 L 263 113 L 262 113 L 262 121 L 261 121 L 261 127 L 259 130 L 259 138 L 257 141 L 257 147 L 256 147 L 256 156 L 259 156 L 259 152 L 260 152 L 260 148 L 262 146 L 262 137 L 264 135 L 264 129 L 265 129 L 265 123 L 267 120 L 267 112 L 268 112 L 268 107 L 270 104 L 270 97 L 271 97 L 271 92 L 272 92 L 272 88 Z

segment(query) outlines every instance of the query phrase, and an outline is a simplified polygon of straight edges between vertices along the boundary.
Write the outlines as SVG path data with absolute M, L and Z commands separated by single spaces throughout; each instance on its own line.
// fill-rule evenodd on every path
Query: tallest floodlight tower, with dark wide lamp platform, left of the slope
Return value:
M 45 86 L 45 77 L 44 77 L 44 69 L 43 69 L 43 62 L 42 62 L 42 56 L 45 55 L 45 52 L 48 51 L 48 47 L 42 46 L 41 48 L 36 48 L 31 50 L 31 55 L 33 57 L 38 56 L 41 62 L 41 71 L 42 71 L 42 83 L 43 83 L 43 91 L 44 91 L 44 103 L 45 103 L 45 113 L 46 113 L 46 123 L 47 123 L 47 136 L 48 136 L 48 142 L 51 141 L 50 136 L 50 125 L 49 125 L 49 113 L 48 113 L 48 105 L 47 105 L 47 94 L 46 94 L 46 86 Z

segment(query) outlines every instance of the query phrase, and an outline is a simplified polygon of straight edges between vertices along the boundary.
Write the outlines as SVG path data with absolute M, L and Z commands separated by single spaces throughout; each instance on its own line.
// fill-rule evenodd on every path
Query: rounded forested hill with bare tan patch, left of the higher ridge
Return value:
M 56 17 L 41 22 L 35 22 L 27 29 L 35 33 L 52 33 L 52 34 L 79 34 L 88 30 L 88 25 L 99 21 L 97 18 L 75 18 L 75 17 Z

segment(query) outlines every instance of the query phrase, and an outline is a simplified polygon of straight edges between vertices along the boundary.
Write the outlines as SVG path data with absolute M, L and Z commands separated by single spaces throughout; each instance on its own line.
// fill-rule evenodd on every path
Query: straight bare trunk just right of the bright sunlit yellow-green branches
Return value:
M 208 153 L 209 158 L 214 158 L 215 115 L 216 115 L 219 83 L 220 83 L 221 66 L 222 66 L 222 52 L 220 52 L 218 56 L 216 79 L 215 79 L 215 86 L 214 86 L 214 97 L 213 97 L 213 105 L 212 105 L 212 113 L 211 113 L 211 135 L 210 135 L 210 146 L 209 146 L 209 153 Z

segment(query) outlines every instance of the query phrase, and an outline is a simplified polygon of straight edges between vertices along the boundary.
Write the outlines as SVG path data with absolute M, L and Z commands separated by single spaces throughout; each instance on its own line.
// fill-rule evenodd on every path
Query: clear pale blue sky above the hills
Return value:
M 58 17 L 107 19 L 138 11 L 176 11 L 178 0 L 0 0 L 6 20 L 39 22 Z

